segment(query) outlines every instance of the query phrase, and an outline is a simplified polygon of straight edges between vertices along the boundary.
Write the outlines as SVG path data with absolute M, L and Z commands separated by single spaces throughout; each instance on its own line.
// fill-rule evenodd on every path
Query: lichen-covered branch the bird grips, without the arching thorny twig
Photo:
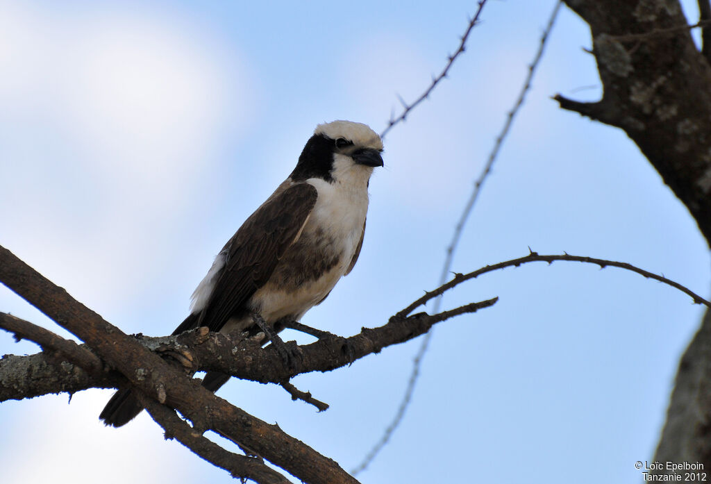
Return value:
M 228 336 L 221 333 L 205 333 L 204 328 L 198 328 L 177 336 L 164 336 L 161 338 L 141 335 L 136 338 L 136 341 L 145 348 L 160 354 L 179 356 L 183 367 L 190 372 L 214 370 L 228 373 L 243 380 L 282 384 L 287 382 L 289 378 L 301 373 L 325 372 L 350 365 L 354 360 L 371 353 L 379 353 L 380 350 L 387 346 L 417 338 L 417 336 L 427 333 L 434 324 L 447 318 L 459 316 L 459 314 L 463 313 L 473 313 L 478 309 L 491 306 L 495 302 L 496 299 L 490 299 L 480 303 L 467 304 L 461 308 L 455 308 L 432 316 L 427 313 L 419 313 L 409 317 L 393 317 L 384 326 L 363 328 L 360 333 L 351 336 L 351 338 L 342 338 L 341 336 L 324 333 L 320 340 L 309 345 L 296 347 L 294 342 L 288 342 L 286 344 L 293 346 L 294 352 L 300 355 L 290 365 L 284 363 L 284 360 L 274 348 L 261 348 L 260 345 L 255 344 L 252 340 L 242 339 L 238 335 Z M 40 359 L 40 361 L 44 361 L 41 359 L 44 356 L 44 353 L 40 353 L 38 355 L 13 356 L 11 358 L 13 359 L 13 365 L 21 367 L 26 365 L 25 360 L 34 361 Z M 0 384 L 4 382 L 4 375 L 12 375 L 14 373 L 15 370 L 12 365 L 8 365 L 6 368 L 0 367 Z M 50 367 L 41 364 L 35 365 L 31 375 L 28 375 L 28 372 L 22 372 L 22 375 L 25 375 L 23 377 L 25 386 L 22 389 L 27 392 L 28 397 L 65 391 L 60 382 L 67 379 L 69 381 L 66 384 L 71 384 L 75 378 L 73 372 L 65 371 L 63 366 Z M 112 374 L 105 374 L 97 378 L 95 380 L 97 386 L 107 387 L 111 386 L 107 384 L 109 381 L 114 382 L 114 385 L 121 381 L 118 376 L 110 380 L 110 375 Z M 55 386 L 48 387 L 45 384 L 44 380 L 48 378 L 56 382 Z M 82 383 L 84 383 L 82 387 L 70 386 L 70 388 L 73 391 L 77 391 L 92 387 L 92 381 L 88 375 L 85 378 L 86 380 L 82 380 Z M 28 382 L 33 382 L 39 388 L 28 388 Z M 0 402 L 6 399 L 20 398 L 23 398 L 23 394 L 14 390 L 13 385 L 0 386 Z M 316 404 L 318 401 L 309 402 Z M 318 402 L 318 404 L 324 405 L 321 402 Z

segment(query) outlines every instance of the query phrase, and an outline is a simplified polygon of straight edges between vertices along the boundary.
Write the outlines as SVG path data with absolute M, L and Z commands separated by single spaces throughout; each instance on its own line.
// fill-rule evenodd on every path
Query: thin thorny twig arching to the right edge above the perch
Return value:
M 437 296 L 444 294 L 444 292 L 449 291 L 449 289 L 453 288 L 454 286 L 457 286 L 458 284 L 461 284 L 464 281 L 468 281 L 469 279 L 476 279 L 476 277 L 481 276 L 481 274 L 486 274 L 487 272 L 491 271 L 498 271 L 499 269 L 505 269 L 506 267 L 518 267 L 522 264 L 528 264 L 529 262 L 547 262 L 548 264 L 552 264 L 555 261 L 583 262 L 584 264 L 595 264 L 599 266 L 600 269 L 604 269 L 607 266 L 619 267 L 620 269 L 632 271 L 636 274 L 644 276 L 646 279 L 654 279 L 655 281 L 663 282 L 668 286 L 672 286 L 673 288 L 678 289 L 684 294 L 690 296 L 695 304 L 703 304 L 704 306 L 711 308 L 711 301 L 703 299 L 701 296 L 691 291 L 687 287 L 682 286 L 678 282 L 672 281 L 671 279 L 667 279 L 664 276 L 654 274 L 653 272 L 640 269 L 639 267 L 633 266 L 632 264 L 628 264 L 627 262 L 617 262 L 606 259 L 596 259 L 595 257 L 584 257 L 570 254 L 539 255 L 537 252 L 531 252 L 525 257 L 519 257 L 518 259 L 511 259 L 505 262 L 499 262 L 498 264 L 493 264 L 491 266 L 482 267 L 481 269 L 477 269 L 476 271 L 469 272 L 469 274 L 455 274 L 454 279 L 451 279 L 451 281 L 447 282 L 447 284 L 442 284 L 442 286 L 439 286 L 437 289 L 434 289 L 434 291 L 427 292 L 426 294 L 424 294 L 424 296 L 417 299 L 417 301 L 410 304 L 410 306 L 407 306 L 407 308 L 400 311 L 400 313 L 397 313 L 397 316 L 405 317 L 408 314 L 412 313 L 412 311 L 414 311 L 418 306 L 422 306 L 423 304 L 427 303 L 427 301 L 429 301 L 430 299 L 434 299 Z

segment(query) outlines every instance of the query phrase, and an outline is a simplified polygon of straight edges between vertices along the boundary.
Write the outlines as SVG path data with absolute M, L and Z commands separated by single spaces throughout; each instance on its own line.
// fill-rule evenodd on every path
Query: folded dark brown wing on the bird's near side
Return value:
M 294 185 L 272 195 L 225 245 L 228 252 L 210 301 L 197 326 L 218 331 L 263 286 L 287 248 L 301 234 L 314 208 L 316 188 Z

